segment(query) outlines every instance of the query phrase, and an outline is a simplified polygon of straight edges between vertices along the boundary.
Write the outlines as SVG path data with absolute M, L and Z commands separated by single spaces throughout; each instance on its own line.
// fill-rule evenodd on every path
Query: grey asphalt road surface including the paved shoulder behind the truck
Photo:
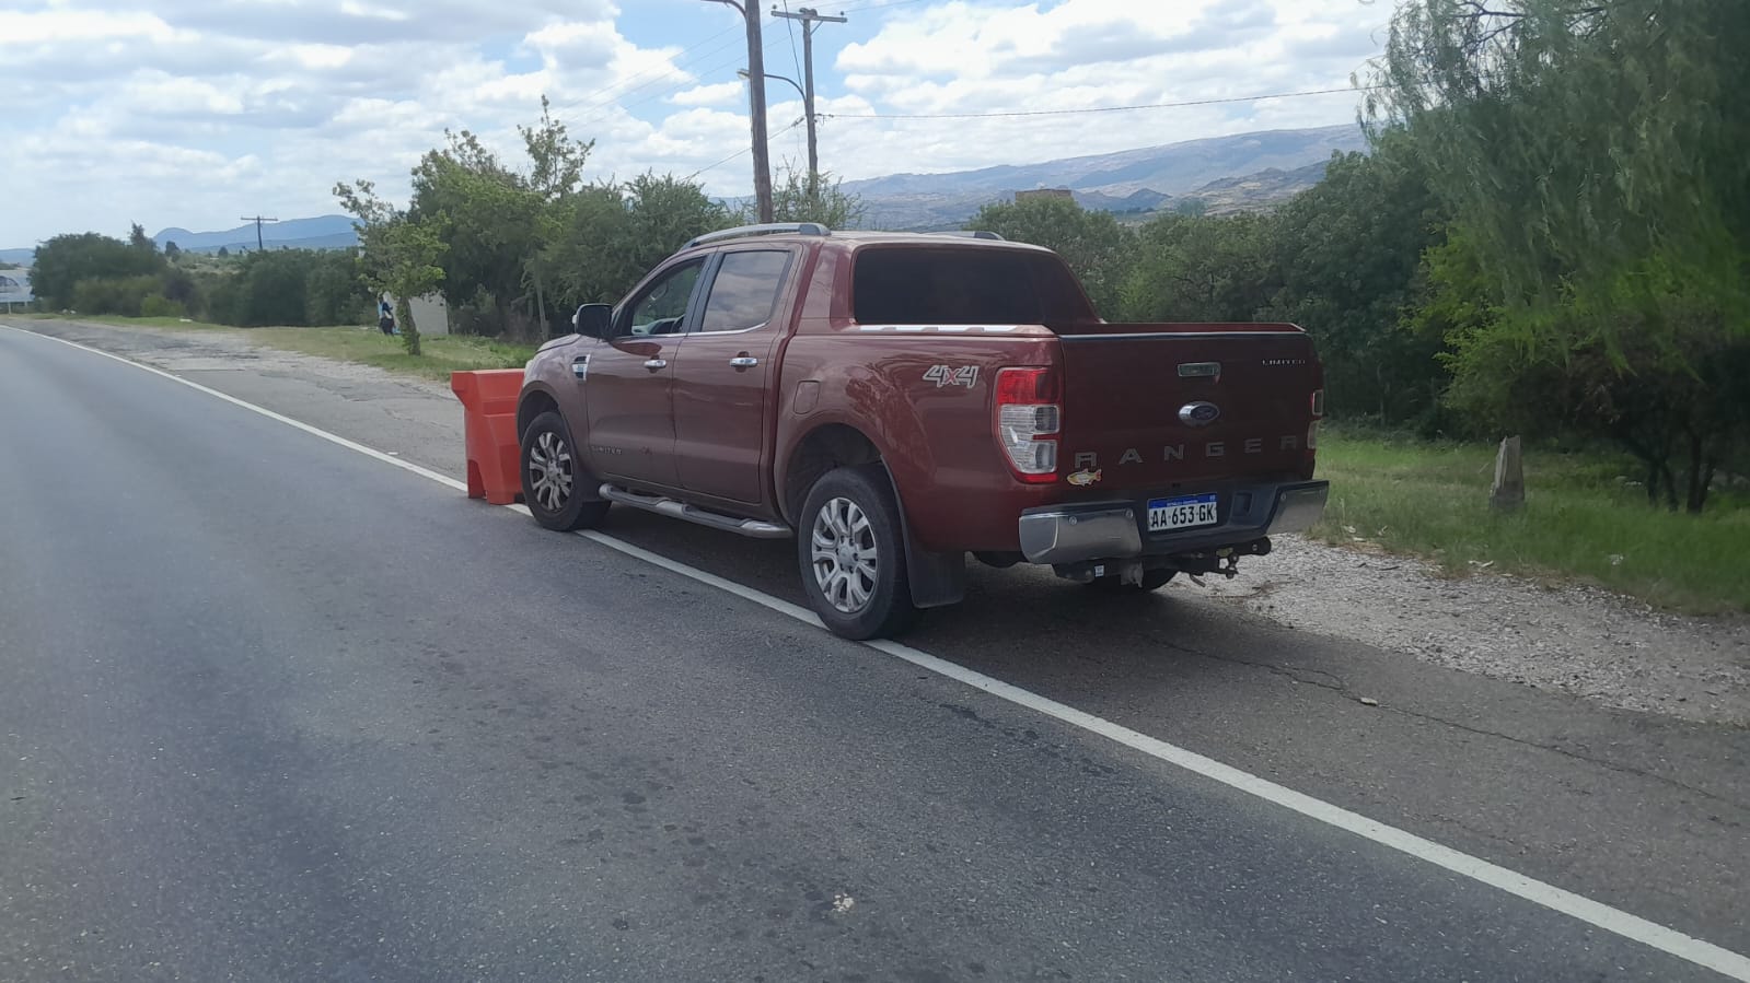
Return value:
M 1745 948 L 1741 731 L 973 586 L 910 642 Z M 0 588 L 7 981 L 1718 978 L 4 329 Z

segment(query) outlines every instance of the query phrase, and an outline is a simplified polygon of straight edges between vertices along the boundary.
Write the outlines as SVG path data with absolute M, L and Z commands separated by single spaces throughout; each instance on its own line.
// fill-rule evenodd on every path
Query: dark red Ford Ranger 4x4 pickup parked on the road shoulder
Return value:
M 1106 324 L 1050 250 L 816 224 L 700 236 L 528 362 L 523 497 L 796 537 L 833 631 L 956 603 L 966 554 L 1144 591 L 1325 507 L 1292 324 Z

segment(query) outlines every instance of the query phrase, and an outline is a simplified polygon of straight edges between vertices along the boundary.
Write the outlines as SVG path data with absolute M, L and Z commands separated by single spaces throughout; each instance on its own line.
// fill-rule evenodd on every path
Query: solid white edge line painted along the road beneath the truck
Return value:
M 23 334 L 37 334 L 23 329 L 14 329 L 14 331 L 19 331 Z M 206 388 L 200 383 L 192 383 L 180 376 L 173 376 L 163 369 L 154 369 L 152 366 L 144 366 L 140 362 L 122 359 L 121 355 L 112 355 L 108 352 L 100 352 L 96 348 L 79 345 L 75 341 L 66 341 L 65 338 L 54 338 L 47 334 L 37 334 L 37 338 L 60 341 L 61 345 L 70 345 L 74 348 L 80 348 L 84 352 L 91 352 L 105 359 L 114 359 L 124 366 L 145 369 L 147 373 L 182 383 L 208 395 L 215 395 L 226 402 L 242 406 L 243 409 L 259 413 L 270 420 L 278 420 L 280 423 L 296 427 L 306 434 L 313 434 L 317 437 L 322 437 L 324 441 L 340 444 L 346 450 L 354 450 L 362 455 L 382 460 L 385 464 L 392 464 L 399 469 L 411 471 L 422 478 L 429 478 L 450 488 L 457 488 L 462 492 L 467 490 L 466 483 L 457 481 L 446 474 L 439 474 L 436 471 L 420 467 L 416 464 L 408 464 L 401 458 L 388 457 L 383 451 L 371 450 L 364 444 L 348 441 L 346 437 L 340 437 L 336 434 L 329 434 L 327 430 L 320 430 L 308 423 L 301 423 L 298 420 L 292 420 L 290 416 L 282 416 L 271 409 L 262 409 L 261 406 L 256 406 L 252 402 L 243 402 L 242 399 Z M 506 507 L 528 514 L 527 505 L 506 505 Z M 756 591 L 752 588 L 737 584 L 733 581 L 726 581 L 716 574 L 707 574 L 705 570 L 688 567 L 686 563 L 668 560 L 667 556 L 660 556 L 656 553 L 651 553 L 639 546 L 632 546 L 630 542 L 623 542 L 620 539 L 614 539 L 600 532 L 581 532 L 579 535 L 609 549 L 625 553 L 626 556 L 634 556 L 646 563 L 653 563 L 656 567 L 662 567 L 663 570 L 681 574 L 682 577 L 691 577 L 693 581 L 698 581 L 702 584 L 719 588 L 738 598 L 751 600 L 761 607 L 772 609 L 779 614 L 794 617 L 796 621 L 824 630 L 821 619 L 816 617 L 812 610 L 802 605 L 791 603 L 782 598 L 775 598 L 772 595 Z M 1213 757 L 1197 754 L 1195 750 L 1186 750 L 1174 743 L 1167 743 L 1160 738 L 1148 736 L 1141 731 L 1132 731 L 1130 728 L 1115 724 L 1104 717 L 1096 717 L 1094 714 L 1088 714 L 1085 710 L 1076 710 L 1068 703 L 1059 703 L 1057 700 L 1052 700 L 1048 696 L 1040 696 L 1038 693 L 1032 693 L 1029 689 L 1022 689 L 1018 686 L 989 677 L 982 672 L 970 670 L 962 665 L 950 663 L 938 656 L 931 656 L 929 652 L 922 652 L 910 645 L 901 645 L 900 642 L 886 642 L 886 640 L 863 642 L 863 645 L 877 652 L 892 656 L 896 659 L 903 659 L 922 670 L 929 670 L 956 682 L 962 682 L 966 686 L 971 686 L 973 689 L 982 689 L 984 693 L 989 693 L 998 700 L 1015 703 L 1017 707 L 1026 707 L 1027 710 L 1032 710 L 1036 714 L 1043 714 L 1046 717 L 1062 721 L 1073 728 L 1080 728 L 1092 735 L 1099 735 L 1106 740 L 1122 743 L 1124 747 L 1139 750 L 1150 757 L 1166 761 L 1167 764 L 1176 764 L 1194 775 L 1200 775 L 1213 782 L 1228 785 L 1230 789 L 1237 789 L 1250 796 L 1256 796 L 1267 803 L 1297 812 L 1307 819 L 1316 819 L 1318 822 L 1334 826 L 1346 833 L 1353 833 L 1363 840 L 1379 843 L 1381 847 L 1390 847 L 1393 850 L 1416 857 L 1418 861 L 1426 861 L 1437 868 L 1444 868 L 1447 871 L 1466 876 L 1479 883 L 1486 883 L 1493 889 L 1503 890 L 1516 897 L 1522 897 L 1542 908 L 1549 908 L 1550 911 L 1559 911 L 1563 915 L 1578 918 L 1580 922 L 1603 929 L 1614 936 L 1642 943 L 1668 955 L 1675 955 L 1676 959 L 1682 959 L 1685 962 L 1692 962 L 1696 966 L 1712 969 L 1732 980 L 1741 980 L 1745 983 L 1750 983 L 1750 957 L 1740 955 L 1727 948 L 1698 939 L 1694 936 L 1685 936 L 1684 932 L 1648 922 L 1647 918 L 1642 918 L 1638 915 L 1629 915 L 1628 911 L 1620 911 L 1608 904 L 1573 894 L 1572 890 L 1564 890 L 1552 883 L 1544 883 L 1536 878 L 1521 875 L 1517 871 L 1510 871 L 1500 864 L 1491 864 L 1489 861 L 1484 861 L 1480 857 L 1472 857 L 1470 854 L 1463 854 L 1451 847 L 1444 847 L 1440 843 L 1435 843 L 1433 840 L 1424 840 L 1421 836 L 1416 836 L 1414 833 L 1405 833 L 1404 829 L 1398 829 L 1395 826 L 1367 819 L 1362 813 L 1349 812 L 1342 806 L 1330 805 L 1323 799 L 1314 799 L 1312 796 L 1297 792 L 1286 785 L 1278 785 L 1276 782 L 1270 782 L 1267 778 L 1258 778 L 1256 775 L 1234 768 L 1232 764 L 1223 764 Z

